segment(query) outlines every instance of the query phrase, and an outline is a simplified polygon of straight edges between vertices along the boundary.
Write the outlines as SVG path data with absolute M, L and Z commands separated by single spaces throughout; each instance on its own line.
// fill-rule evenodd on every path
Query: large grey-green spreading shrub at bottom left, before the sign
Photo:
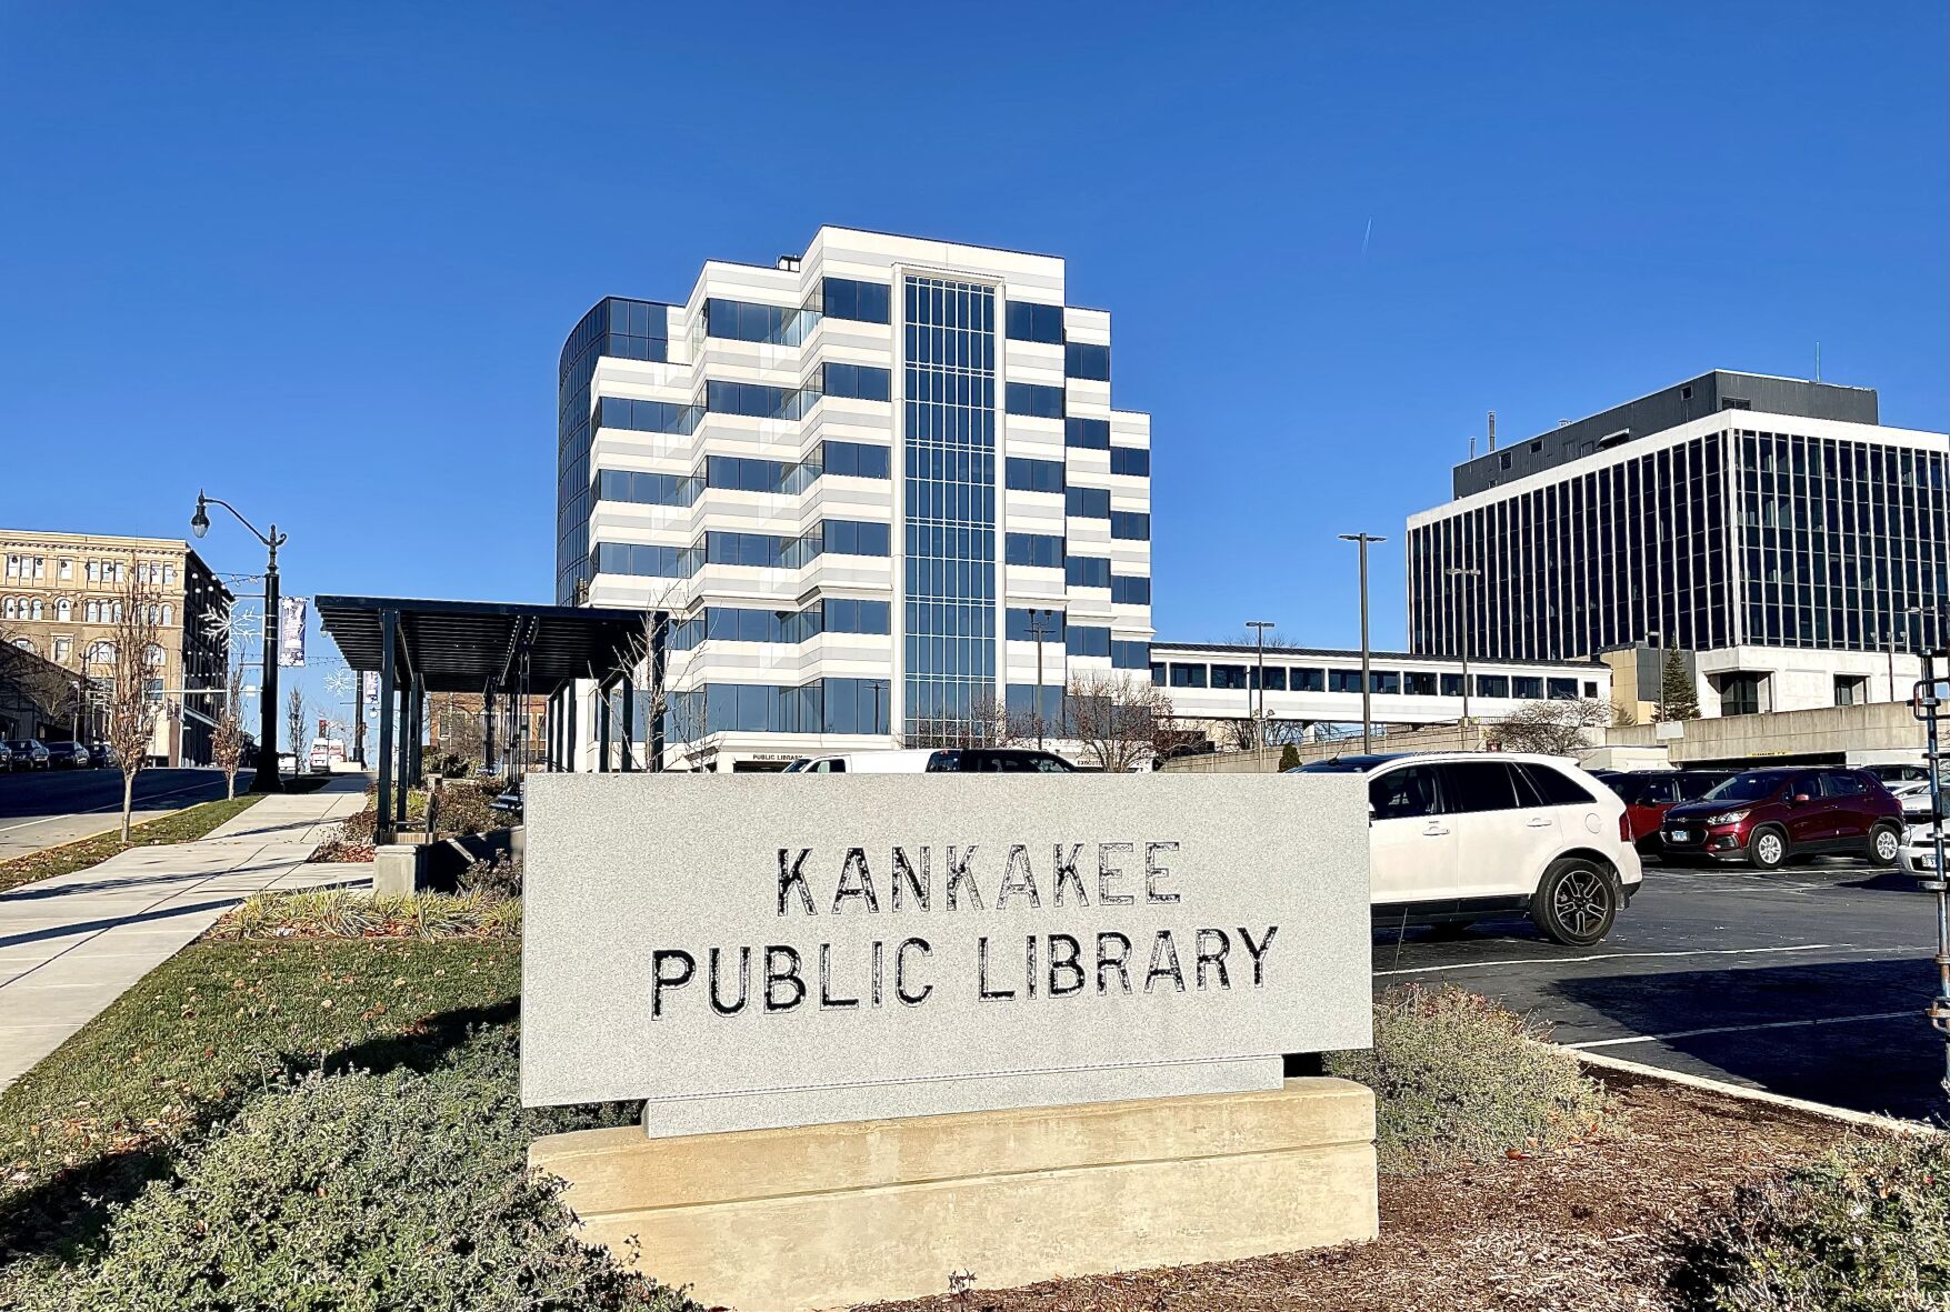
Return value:
M 525 1115 L 513 1064 L 499 1027 L 429 1074 L 312 1074 L 254 1098 L 119 1207 L 92 1259 L 23 1287 L 23 1312 L 694 1308 L 569 1234 L 560 1183 L 525 1152 L 589 1117 Z

